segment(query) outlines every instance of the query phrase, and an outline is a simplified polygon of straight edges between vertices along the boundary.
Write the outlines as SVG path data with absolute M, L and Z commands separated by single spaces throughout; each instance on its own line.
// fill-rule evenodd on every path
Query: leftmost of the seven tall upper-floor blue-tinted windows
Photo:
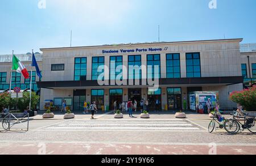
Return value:
M 75 76 L 74 80 L 86 80 L 87 59 L 75 58 Z

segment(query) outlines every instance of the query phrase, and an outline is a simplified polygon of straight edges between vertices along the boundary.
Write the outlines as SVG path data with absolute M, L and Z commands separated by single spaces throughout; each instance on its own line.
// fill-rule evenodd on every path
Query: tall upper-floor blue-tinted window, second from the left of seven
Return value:
M 92 80 L 98 80 L 98 76 L 104 73 L 104 57 L 93 57 L 92 58 Z M 98 69 L 102 69 L 98 72 Z

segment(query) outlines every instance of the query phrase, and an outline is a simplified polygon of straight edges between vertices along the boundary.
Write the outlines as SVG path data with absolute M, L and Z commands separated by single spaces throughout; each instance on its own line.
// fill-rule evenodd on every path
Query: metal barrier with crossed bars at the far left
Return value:
M 29 113 L 0 113 L 0 115 L 1 122 L 3 122 L 4 120 L 9 122 L 10 126 L 8 131 L 13 129 L 17 125 L 23 126 L 24 129 L 26 129 L 25 131 L 28 131 L 30 121 Z M 24 125 L 24 122 L 27 122 L 27 124 Z

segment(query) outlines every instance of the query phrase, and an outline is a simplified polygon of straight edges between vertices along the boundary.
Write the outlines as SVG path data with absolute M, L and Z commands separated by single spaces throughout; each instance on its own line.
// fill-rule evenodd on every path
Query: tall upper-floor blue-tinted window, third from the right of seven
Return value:
M 147 55 L 147 78 L 161 78 L 160 54 Z

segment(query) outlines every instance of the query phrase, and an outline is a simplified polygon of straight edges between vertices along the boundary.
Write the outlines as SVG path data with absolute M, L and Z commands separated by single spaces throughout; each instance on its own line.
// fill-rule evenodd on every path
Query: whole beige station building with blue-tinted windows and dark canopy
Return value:
M 195 91 L 217 91 L 221 108 L 230 109 L 236 107 L 236 103 L 229 100 L 229 93 L 242 90 L 256 79 L 256 50 L 247 50 L 247 45 L 240 45 L 241 41 L 42 48 L 43 54 L 36 58 L 43 78 L 33 75 L 34 91 L 40 94 L 41 110 L 46 100 L 52 100 L 53 105 L 59 107 L 66 100 L 72 110 L 82 110 L 84 101 L 97 101 L 98 108 L 113 109 L 115 100 L 121 103 L 129 99 L 136 99 L 138 103 L 148 99 L 151 110 L 155 108 L 156 99 L 161 101 L 162 109 L 190 109 L 189 93 Z M 23 62 L 25 66 L 30 64 Z M 146 67 L 134 71 L 131 65 Z M 0 66 L 0 89 L 6 90 L 9 89 L 11 62 L 1 62 Z M 102 66 L 102 70 L 98 70 Z M 121 69 L 118 66 L 122 66 Z M 27 68 L 30 71 L 30 67 Z M 105 84 L 98 82 L 102 75 Z M 115 82 L 120 75 L 122 84 Z M 155 91 L 151 91 L 151 79 L 159 81 Z M 130 80 L 134 80 L 133 84 Z M 27 80 L 20 75 L 13 74 L 12 81 L 13 87 L 27 88 Z

